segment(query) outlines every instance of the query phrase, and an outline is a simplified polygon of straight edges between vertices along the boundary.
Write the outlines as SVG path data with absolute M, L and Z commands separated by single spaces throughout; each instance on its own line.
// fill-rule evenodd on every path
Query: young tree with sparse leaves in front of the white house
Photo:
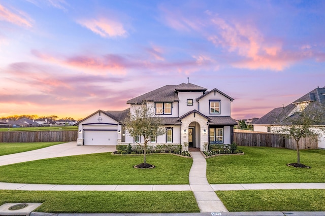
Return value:
M 143 163 L 146 164 L 147 143 L 151 137 L 165 134 L 165 130 L 161 127 L 161 117 L 157 117 L 153 112 L 153 108 L 148 107 L 146 102 L 143 102 L 139 107 L 135 107 L 132 111 L 133 114 L 129 113 L 123 121 L 123 125 L 131 136 L 143 137 Z M 141 144 L 138 143 L 138 145 Z

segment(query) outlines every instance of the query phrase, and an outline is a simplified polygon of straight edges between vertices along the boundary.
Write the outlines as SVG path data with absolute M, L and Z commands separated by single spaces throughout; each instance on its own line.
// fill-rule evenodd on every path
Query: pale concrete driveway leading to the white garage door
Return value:
M 114 151 L 116 151 L 116 146 L 77 146 L 77 142 L 73 141 L 46 147 L 43 149 L 0 156 L 0 166 L 46 158 L 57 158 L 72 155 L 86 155 Z

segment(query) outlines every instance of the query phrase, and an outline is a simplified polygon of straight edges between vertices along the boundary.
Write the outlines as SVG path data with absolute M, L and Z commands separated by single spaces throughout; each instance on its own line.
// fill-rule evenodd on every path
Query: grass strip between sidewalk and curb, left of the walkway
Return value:
M 35 211 L 52 213 L 200 212 L 191 191 L 0 190 L 0 205 L 9 202 L 42 202 Z

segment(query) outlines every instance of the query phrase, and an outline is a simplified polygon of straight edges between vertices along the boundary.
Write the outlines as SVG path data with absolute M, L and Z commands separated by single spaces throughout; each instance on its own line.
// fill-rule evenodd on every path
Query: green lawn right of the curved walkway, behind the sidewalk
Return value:
M 207 159 L 210 184 L 232 183 L 312 183 L 325 182 L 325 150 L 303 150 L 301 163 L 312 167 L 286 166 L 297 162 L 297 152 L 266 147 L 238 147 L 244 155 Z

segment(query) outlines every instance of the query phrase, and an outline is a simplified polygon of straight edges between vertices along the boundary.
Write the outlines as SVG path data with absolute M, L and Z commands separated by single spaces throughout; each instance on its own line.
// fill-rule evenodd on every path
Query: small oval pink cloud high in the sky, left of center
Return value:
M 80 25 L 101 35 L 103 38 L 126 37 L 127 32 L 121 22 L 105 17 L 82 19 L 77 21 Z

